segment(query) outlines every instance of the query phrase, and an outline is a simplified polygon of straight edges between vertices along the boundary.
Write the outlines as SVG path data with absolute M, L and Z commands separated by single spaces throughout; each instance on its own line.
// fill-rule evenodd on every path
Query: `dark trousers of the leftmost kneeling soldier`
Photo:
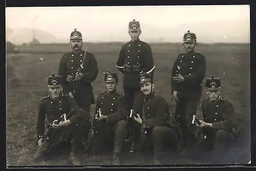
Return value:
M 59 128 L 58 131 L 53 132 L 51 138 L 49 141 L 44 141 L 36 150 L 36 152 L 33 155 L 34 161 L 42 161 L 42 160 L 49 160 L 52 158 L 52 156 L 55 156 L 56 152 L 60 152 L 64 148 L 67 148 L 68 144 L 70 144 L 70 140 L 72 140 L 72 147 L 71 147 L 71 152 L 73 154 L 77 155 L 79 152 L 79 147 L 81 143 L 81 137 L 79 136 L 79 126 L 72 125 L 68 126 L 67 128 L 64 129 L 69 129 L 67 132 L 70 132 L 70 134 L 65 134 L 65 131 L 61 131 Z M 56 138 L 58 138 L 58 141 Z M 60 140 L 61 139 L 61 140 Z

